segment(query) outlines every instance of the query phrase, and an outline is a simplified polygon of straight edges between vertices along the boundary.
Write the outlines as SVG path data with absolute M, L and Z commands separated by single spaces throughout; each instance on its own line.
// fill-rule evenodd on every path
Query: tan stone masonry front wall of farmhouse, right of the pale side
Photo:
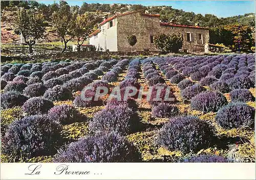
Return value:
M 160 18 L 155 16 L 142 16 L 139 12 L 117 17 L 117 51 L 131 51 L 131 46 L 127 42 L 128 35 L 135 35 L 137 43 L 133 47 L 134 51 L 159 51 L 151 43 L 150 36 L 158 32 L 182 33 L 182 50 L 188 52 L 204 52 L 204 44 L 209 41 L 209 31 L 207 29 L 160 26 Z M 187 32 L 191 33 L 191 42 L 187 41 Z M 203 34 L 203 43 L 198 38 L 198 34 Z

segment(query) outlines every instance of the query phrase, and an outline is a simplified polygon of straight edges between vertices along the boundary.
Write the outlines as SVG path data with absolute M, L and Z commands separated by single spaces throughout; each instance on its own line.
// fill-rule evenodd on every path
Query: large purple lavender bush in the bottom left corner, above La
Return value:
M 61 145 L 61 127 L 46 115 L 34 115 L 15 120 L 2 139 L 2 153 L 14 161 L 35 156 L 53 155 Z

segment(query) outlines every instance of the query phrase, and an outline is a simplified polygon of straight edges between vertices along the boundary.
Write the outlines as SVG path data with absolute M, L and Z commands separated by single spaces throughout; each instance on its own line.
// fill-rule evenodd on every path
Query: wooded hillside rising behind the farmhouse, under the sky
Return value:
M 80 46 L 86 42 L 88 35 L 98 28 L 98 23 L 102 21 L 103 17 L 138 10 L 150 14 L 160 14 L 160 19 L 163 22 L 175 19 L 176 24 L 188 26 L 194 26 L 196 22 L 200 22 L 200 26 L 209 28 L 210 43 L 221 43 L 230 51 L 241 49 L 249 52 L 255 41 L 253 35 L 254 13 L 219 18 L 213 14 L 202 15 L 185 12 L 171 6 L 83 3 L 79 7 L 70 6 L 65 1 L 51 5 L 35 1 L 1 1 L 2 43 L 16 43 L 20 40 L 20 36 L 17 35 L 19 32 L 14 31 L 14 22 L 20 8 L 36 12 L 44 20 L 41 22 L 45 25 L 44 38 L 37 39 L 37 42 L 56 42 L 61 44 L 62 51 L 67 50 L 70 43 Z M 86 21 L 87 19 L 91 20 Z M 240 44 L 243 41 L 246 43 Z

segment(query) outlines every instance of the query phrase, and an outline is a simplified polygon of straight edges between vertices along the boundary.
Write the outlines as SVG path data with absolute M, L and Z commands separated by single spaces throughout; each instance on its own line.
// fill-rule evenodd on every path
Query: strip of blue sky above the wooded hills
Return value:
M 46 5 L 53 4 L 54 1 L 37 1 Z M 79 7 L 86 2 L 99 4 L 141 4 L 144 6 L 172 6 L 174 9 L 182 9 L 196 14 L 214 14 L 218 17 L 229 17 L 243 15 L 245 13 L 255 13 L 254 1 L 67 1 L 69 5 Z M 56 1 L 58 3 L 58 1 Z

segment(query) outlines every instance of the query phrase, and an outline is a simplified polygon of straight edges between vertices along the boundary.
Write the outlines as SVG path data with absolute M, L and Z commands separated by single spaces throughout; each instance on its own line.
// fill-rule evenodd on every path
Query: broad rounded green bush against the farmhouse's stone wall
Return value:
M 157 33 L 153 37 L 153 41 L 156 48 L 164 53 L 178 53 L 182 48 L 183 36 L 181 33 Z

